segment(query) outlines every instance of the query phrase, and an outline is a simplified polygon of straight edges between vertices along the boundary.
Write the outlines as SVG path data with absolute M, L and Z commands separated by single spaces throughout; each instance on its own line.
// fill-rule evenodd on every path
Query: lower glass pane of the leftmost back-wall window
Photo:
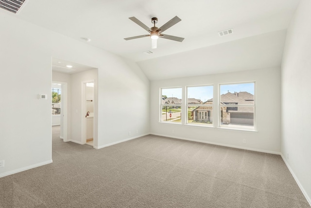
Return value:
M 162 106 L 161 121 L 181 123 L 181 106 Z

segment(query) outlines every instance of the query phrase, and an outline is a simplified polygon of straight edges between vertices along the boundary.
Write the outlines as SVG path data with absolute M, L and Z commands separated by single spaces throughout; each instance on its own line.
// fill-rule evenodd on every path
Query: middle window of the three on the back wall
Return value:
M 187 87 L 187 123 L 213 123 L 213 86 Z

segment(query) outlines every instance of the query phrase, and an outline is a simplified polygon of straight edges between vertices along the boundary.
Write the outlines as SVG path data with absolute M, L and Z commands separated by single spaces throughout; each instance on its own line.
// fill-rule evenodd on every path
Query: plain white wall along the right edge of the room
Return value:
M 311 1 L 301 0 L 288 28 L 282 62 L 281 151 L 311 203 Z

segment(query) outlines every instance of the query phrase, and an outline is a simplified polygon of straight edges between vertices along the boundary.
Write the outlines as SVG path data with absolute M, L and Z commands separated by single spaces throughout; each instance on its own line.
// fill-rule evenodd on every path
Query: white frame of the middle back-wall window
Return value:
M 186 125 L 199 125 L 199 126 L 205 126 L 205 127 L 214 127 L 214 122 L 213 122 L 213 111 L 214 111 L 214 107 L 213 107 L 213 103 L 212 104 L 188 104 L 188 88 L 190 87 L 206 87 L 206 86 L 211 86 L 213 88 L 213 92 L 214 92 L 214 85 L 213 84 L 207 84 L 207 85 L 195 85 L 195 86 L 186 86 Z M 214 95 L 214 94 L 213 94 Z M 214 102 L 214 98 L 211 97 L 213 99 Z M 191 107 L 211 107 L 211 110 L 206 110 L 206 111 L 199 111 L 198 113 L 202 113 L 204 112 L 204 116 L 205 117 L 205 113 L 207 113 L 207 118 L 208 118 L 208 111 L 210 112 L 209 115 L 209 122 L 210 123 L 199 123 L 199 122 L 195 122 L 195 123 L 189 123 L 189 119 L 188 119 L 188 109 Z M 193 116 L 196 116 L 196 114 L 193 114 Z M 200 116 L 200 114 L 198 114 L 198 117 Z M 201 117 L 202 118 L 202 114 Z M 207 119 L 208 120 L 208 119 Z

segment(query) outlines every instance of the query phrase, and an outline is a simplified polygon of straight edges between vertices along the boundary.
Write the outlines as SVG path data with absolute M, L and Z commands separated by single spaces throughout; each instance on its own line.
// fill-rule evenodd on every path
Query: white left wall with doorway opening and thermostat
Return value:
M 0 25 L 0 177 L 52 162 L 52 101 L 37 98 L 51 94 L 52 57 L 98 68 L 99 146 L 149 132 L 149 80 L 135 63 L 6 12 Z

